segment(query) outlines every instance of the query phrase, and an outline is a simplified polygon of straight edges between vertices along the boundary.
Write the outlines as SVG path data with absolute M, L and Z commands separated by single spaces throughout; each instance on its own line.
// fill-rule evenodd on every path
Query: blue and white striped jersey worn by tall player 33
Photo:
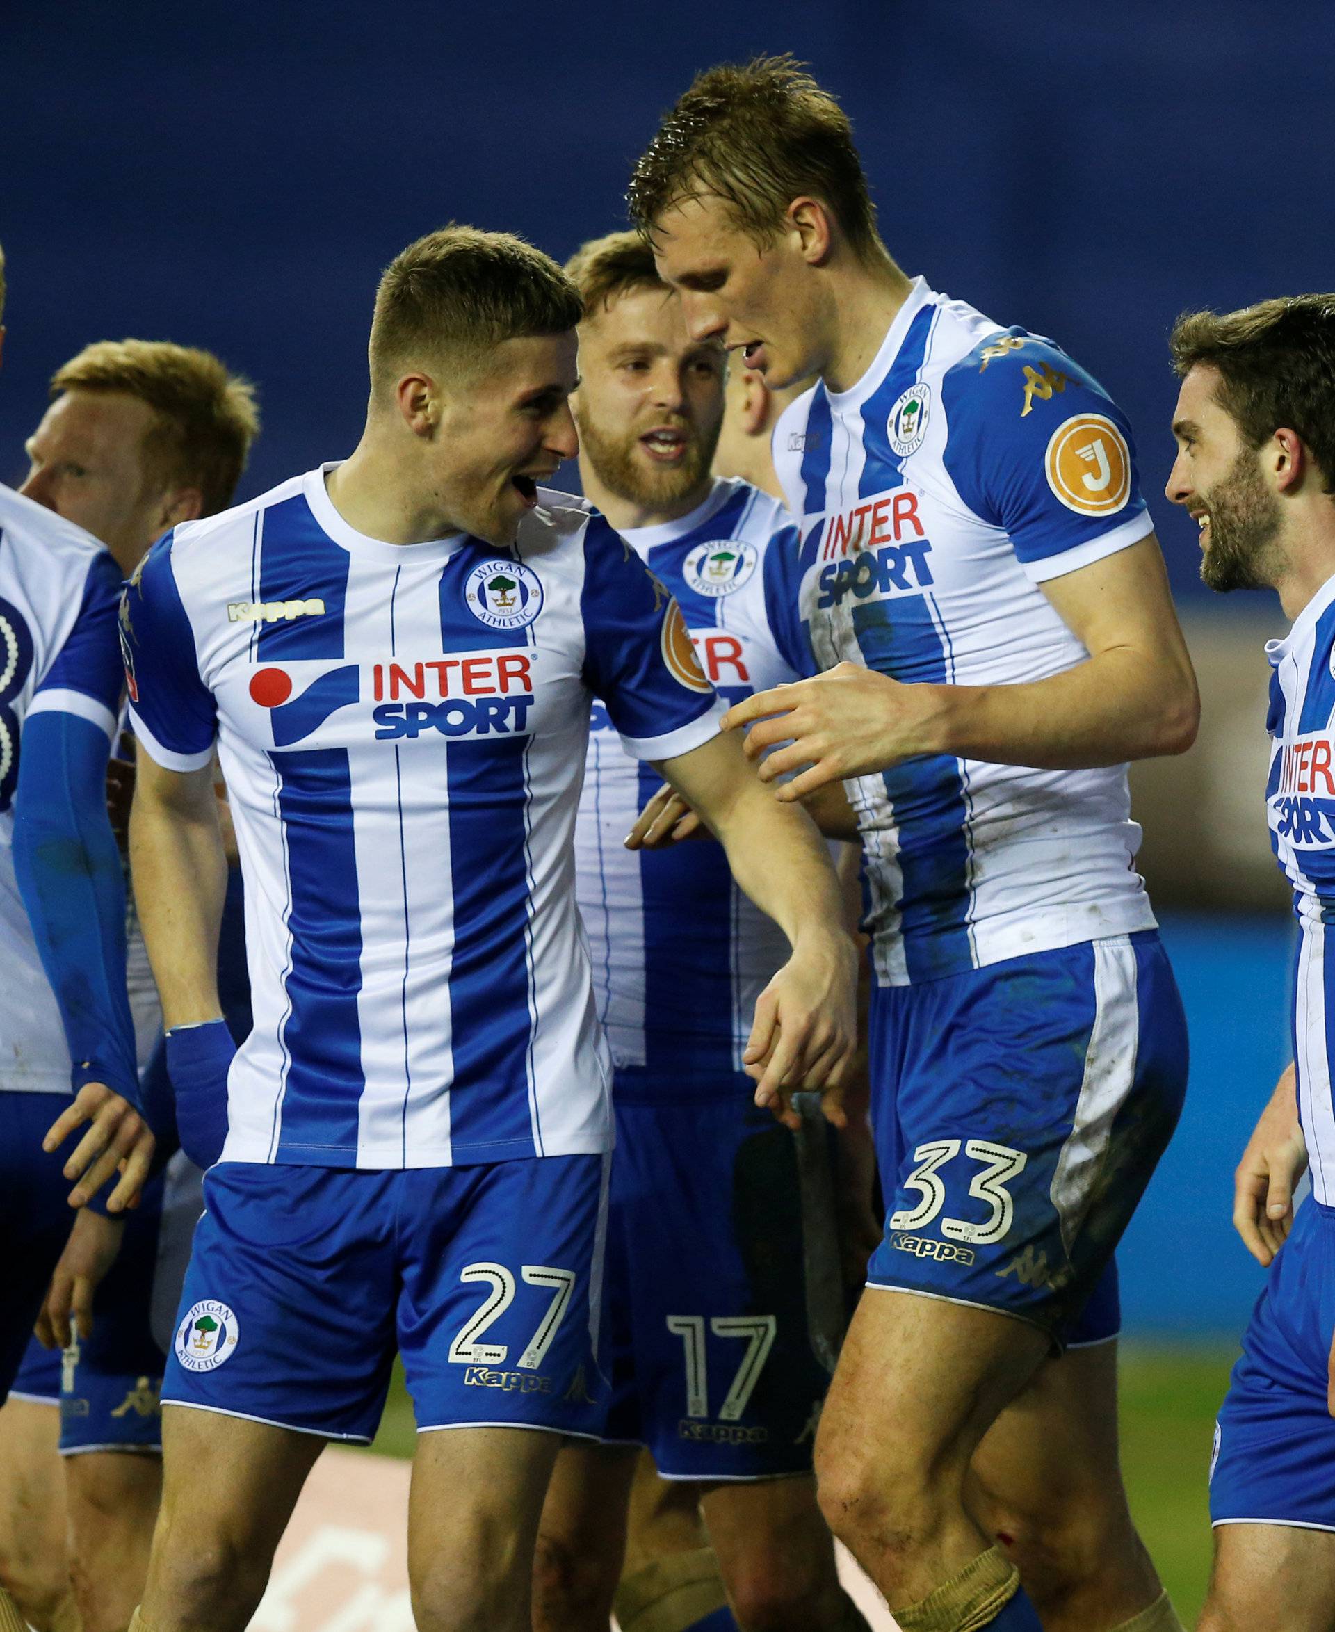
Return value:
M 867 374 L 775 426 L 816 667 L 1013 684 L 1087 658 L 1040 584 L 1151 532 L 1129 429 L 1051 341 L 917 279 Z M 1126 767 L 927 756 L 847 783 L 881 984 L 1154 927 Z

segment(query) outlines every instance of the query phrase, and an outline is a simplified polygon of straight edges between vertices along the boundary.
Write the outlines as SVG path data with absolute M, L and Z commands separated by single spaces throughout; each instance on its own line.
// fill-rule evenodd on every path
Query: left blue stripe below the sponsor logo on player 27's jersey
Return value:
M 292 889 L 291 1010 L 282 1028 L 291 1066 L 279 1152 L 318 1149 L 326 1157 L 341 1157 L 331 1165 L 356 1167 L 357 1102 L 366 1075 L 357 1020 L 362 934 L 348 749 L 297 749 L 269 759 L 279 778 Z

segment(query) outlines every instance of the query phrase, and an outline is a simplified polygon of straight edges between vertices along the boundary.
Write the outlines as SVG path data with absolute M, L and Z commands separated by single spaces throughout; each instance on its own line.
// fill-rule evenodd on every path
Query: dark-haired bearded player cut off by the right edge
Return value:
M 1219 1412 L 1214 1570 L 1201 1632 L 1335 1629 L 1335 295 L 1193 312 L 1167 494 L 1201 529 L 1211 589 L 1273 589 L 1266 813 L 1299 925 L 1294 1062 L 1237 1169 L 1234 1222 L 1270 1270 Z M 1293 1196 L 1311 1169 L 1312 1193 Z

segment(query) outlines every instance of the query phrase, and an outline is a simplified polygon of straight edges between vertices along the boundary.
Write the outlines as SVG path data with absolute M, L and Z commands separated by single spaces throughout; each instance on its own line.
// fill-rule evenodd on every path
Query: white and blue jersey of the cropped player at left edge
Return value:
M 70 1092 L 60 1010 L 15 878 L 13 796 L 26 720 L 70 713 L 111 739 L 119 592 L 96 539 L 0 486 L 0 1089 Z

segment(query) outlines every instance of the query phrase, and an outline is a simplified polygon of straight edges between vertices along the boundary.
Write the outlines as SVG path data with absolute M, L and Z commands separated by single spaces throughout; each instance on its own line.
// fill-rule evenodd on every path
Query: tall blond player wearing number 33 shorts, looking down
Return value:
M 630 204 L 695 339 L 821 377 L 774 454 L 826 672 L 728 723 L 790 741 L 780 798 L 844 778 L 870 889 L 889 1211 L 824 1513 L 909 1632 L 1175 1627 L 1116 1466 L 1113 1248 L 1186 1075 L 1123 762 L 1185 749 L 1196 689 L 1126 421 L 904 276 L 790 59 L 702 75 Z

